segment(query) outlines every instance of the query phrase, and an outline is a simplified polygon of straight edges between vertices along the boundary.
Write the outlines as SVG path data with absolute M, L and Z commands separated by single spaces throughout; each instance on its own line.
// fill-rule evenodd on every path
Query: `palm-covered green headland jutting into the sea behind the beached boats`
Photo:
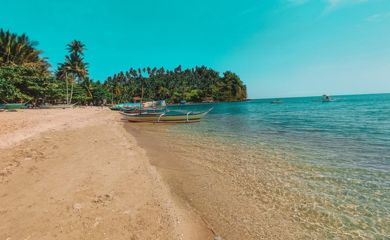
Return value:
M 147 77 L 145 77 L 147 72 Z M 179 65 L 173 71 L 164 68 L 130 68 L 126 73 L 108 77 L 105 86 L 113 90 L 114 101 L 130 101 L 131 97 L 142 95 L 150 100 L 177 98 L 200 101 L 239 101 L 246 99 L 246 86 L 239 76 L 230 71 L 219 73 L 205 66 L 185 69 Z

